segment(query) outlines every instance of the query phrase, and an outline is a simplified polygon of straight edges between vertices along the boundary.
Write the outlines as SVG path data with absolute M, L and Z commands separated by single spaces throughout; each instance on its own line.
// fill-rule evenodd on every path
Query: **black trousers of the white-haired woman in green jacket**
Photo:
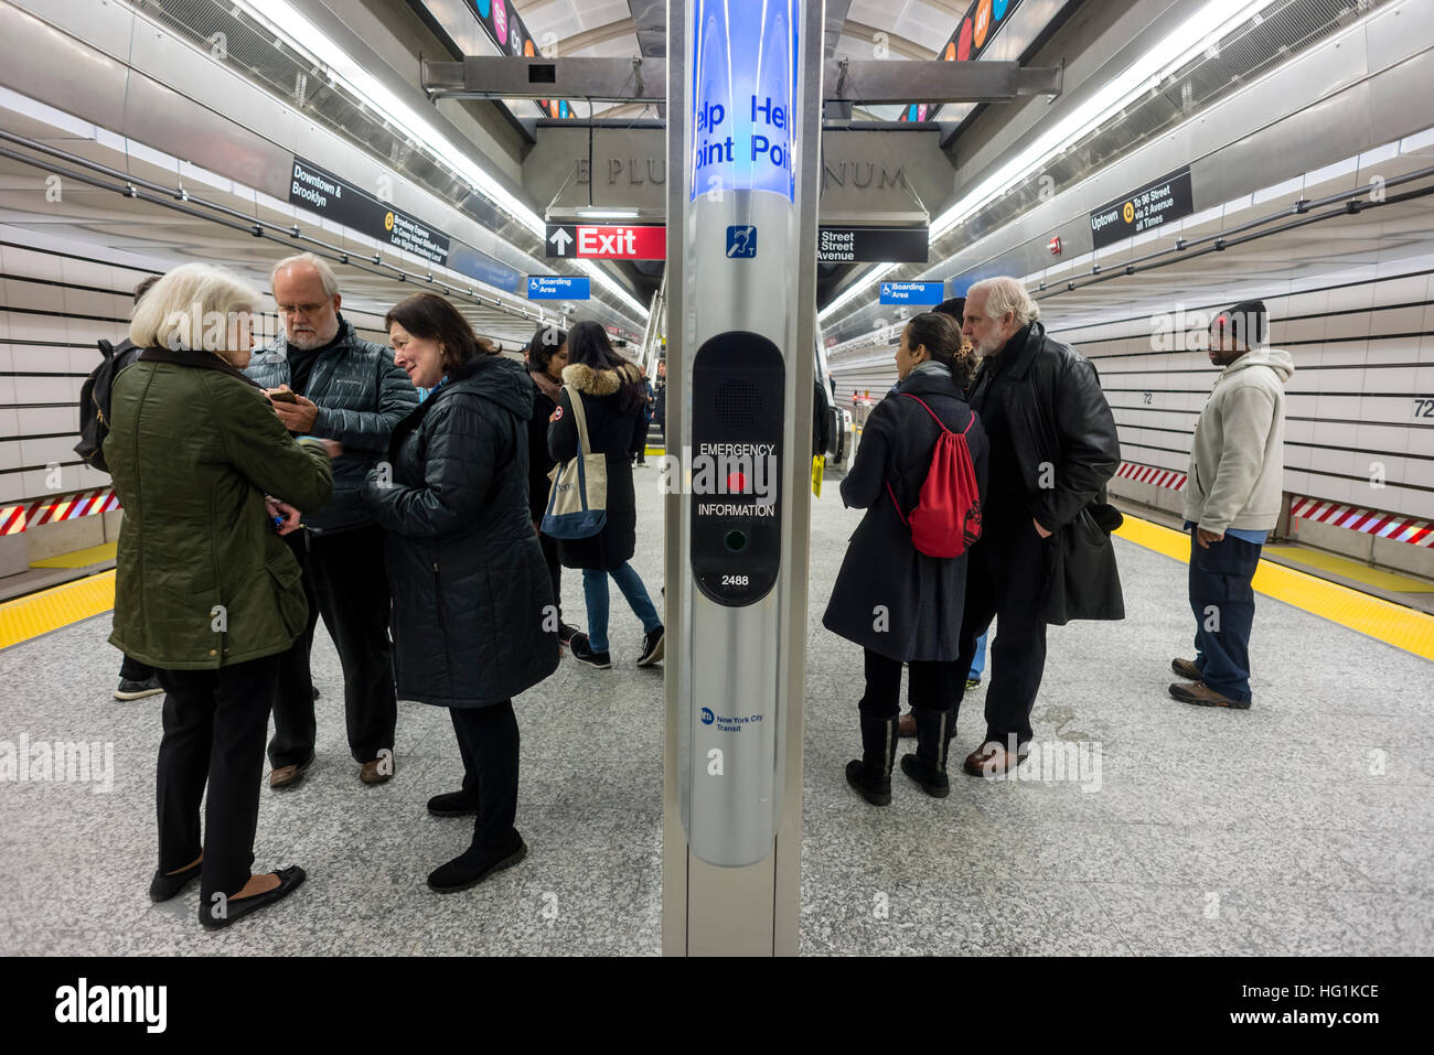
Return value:
M 204 850 L 202 904 L 237 894 L 250 882 L 260 820 L 264 734 L 278 678 L 278 657 L 212 671 L 155 671 L 165 687 L 155 791 L 159 870 L 174 872 Z M 199 839 L 199 803 L 204 840 Z

